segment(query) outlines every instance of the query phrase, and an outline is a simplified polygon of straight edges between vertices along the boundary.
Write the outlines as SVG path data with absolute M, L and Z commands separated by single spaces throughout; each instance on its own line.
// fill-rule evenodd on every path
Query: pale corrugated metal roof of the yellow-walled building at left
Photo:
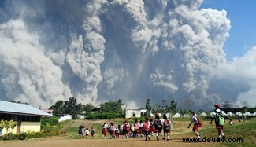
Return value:
M 39 108 L 32 107 L 31 105 L 13 103 L 8 101 L 0 101 L 0 112 L 9 113 L 22 113 L 33 116 L 52 116 Z

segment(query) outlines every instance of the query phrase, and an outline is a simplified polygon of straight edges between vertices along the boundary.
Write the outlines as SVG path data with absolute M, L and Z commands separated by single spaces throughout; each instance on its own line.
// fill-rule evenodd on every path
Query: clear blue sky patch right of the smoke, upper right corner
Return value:
M 200 7 L 227 11 L 232 27 L 223 49 L 228 61 L 232 61 L 233 57 L 242 57 L 256 44 L 255 5 L 254 0 L 204 0 Z

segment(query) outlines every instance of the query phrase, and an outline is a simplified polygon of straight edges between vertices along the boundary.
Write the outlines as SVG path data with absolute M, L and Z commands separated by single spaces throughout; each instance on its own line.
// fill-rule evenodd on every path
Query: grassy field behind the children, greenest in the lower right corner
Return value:
M 112 119 L 113 123 L 121 124 L 124 119 Z M 134 123 L 135 119 L 128 119 L 129 123 Z M 73 123 L 72 123 L 73 122 Z M 78 139 L 78 126 L 83 124 L 85 128 L 91 129 L 95 128 L 95 139 L 102 137 L 102 124 L 104 122 L 109 123 L 109 121 L 99 120 L 99 121 L 89 121 L 80 120 L 79 123 L 74 123 L 76 121 L 71 121 L 66 123 L 66 132 L 69 134 L 67 138 Z M 195 134 L 191 131 L 192 127 L 187 129 L 189 119 L 174 120 L 173 131 L 170 138 L 195 138 Z M 215 129 L 215 124 L 210 124 L 208 120 L 202 120 L 202 127 L 199 129 L 202 138 L 217 138 L 217 130 Z M 226 136 L 226 141 L 220 142 L 220 146 L 255 146 L 256 145 L 256 119 L 250 119 L 245 122 L 239 123 L 237 120 L 233 120 L 232 126 L 224 126 L 224 134 Z

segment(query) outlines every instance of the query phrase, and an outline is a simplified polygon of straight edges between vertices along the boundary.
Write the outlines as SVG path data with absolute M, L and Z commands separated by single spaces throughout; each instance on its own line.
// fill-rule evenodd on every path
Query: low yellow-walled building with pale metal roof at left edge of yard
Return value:
M 8 130 L 8 133 L 39 132 L 41 118 L 47 116 L 52 115 L 31 105 L 0 101 L 0 120 L 17 122 L 16 127 L 13 130 Z M 1 130 L 1 134 L 6 133 L 6 128 Z

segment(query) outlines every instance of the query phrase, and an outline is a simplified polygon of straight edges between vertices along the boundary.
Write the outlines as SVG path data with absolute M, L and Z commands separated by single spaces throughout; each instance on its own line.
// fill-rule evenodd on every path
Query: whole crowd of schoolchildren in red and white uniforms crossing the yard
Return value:
M 220 109 L 221 105 L 217 104 L 214 105 L 215 110 L 212 112 L 211 121 L 210 124 L 213 122 L 213 119 L 215 119 L 216 129 L 218 130 L 218 138 L 221 139 L 221 137 L 224 139 L 224 132 L 223 132 L 223 126 L 224 126 L 224 117 L 227 117 L 230 119 L 229 124 L 232 124 L 232 119 Z M 199 127 L 202 126 L 202 122 L 198 117 L 196 116 L 195 112 L 191 112 L 191 123 L 189 123 L 188 127 L 191 127 L 191 124 L 194 125 L 192 131 L 195 133 L 196 137 L 198 139 L 201 138 L 201 134 L 198 132 Z M 158 113 L 155 114 L 155 118 L 150 119 L 149 117 L 146 117 L 145 121 L 140 120 L 140 122 L 136 119 L 135 123 L 132 125 L 128 123 L 126 120 L 122 125 L 115 126 L 113 122 L 110 123 L 110 125 L 106 124 L 106 122 L 102 125 L 102 139 L 106 138 L 107 133 L 110 134 L 110 139 L 112 138 L 138 138 L 138 137 L 145 137 L 146 141 L 150 141 L 150 137 L 153 136 L 155 133 L 156 139 L 159 141 L 163 130 L 163 140 L 169 141 L 169 134 L 171 133 L 171 122 L 169 119 L 167 119 L 166 114 L 163 115 L 163 119 L 160 119 L 160 116 Z M 80 136 L 83 136 L 83 134 L 86 135 L 86 138 L 88 138 L 90 131 L 87 129 L 84 129 L 83 126 L 79 127 L 79 134 Z M 93 127 L 91 127 L 91 137 L 94 138 L 95 130 Z

